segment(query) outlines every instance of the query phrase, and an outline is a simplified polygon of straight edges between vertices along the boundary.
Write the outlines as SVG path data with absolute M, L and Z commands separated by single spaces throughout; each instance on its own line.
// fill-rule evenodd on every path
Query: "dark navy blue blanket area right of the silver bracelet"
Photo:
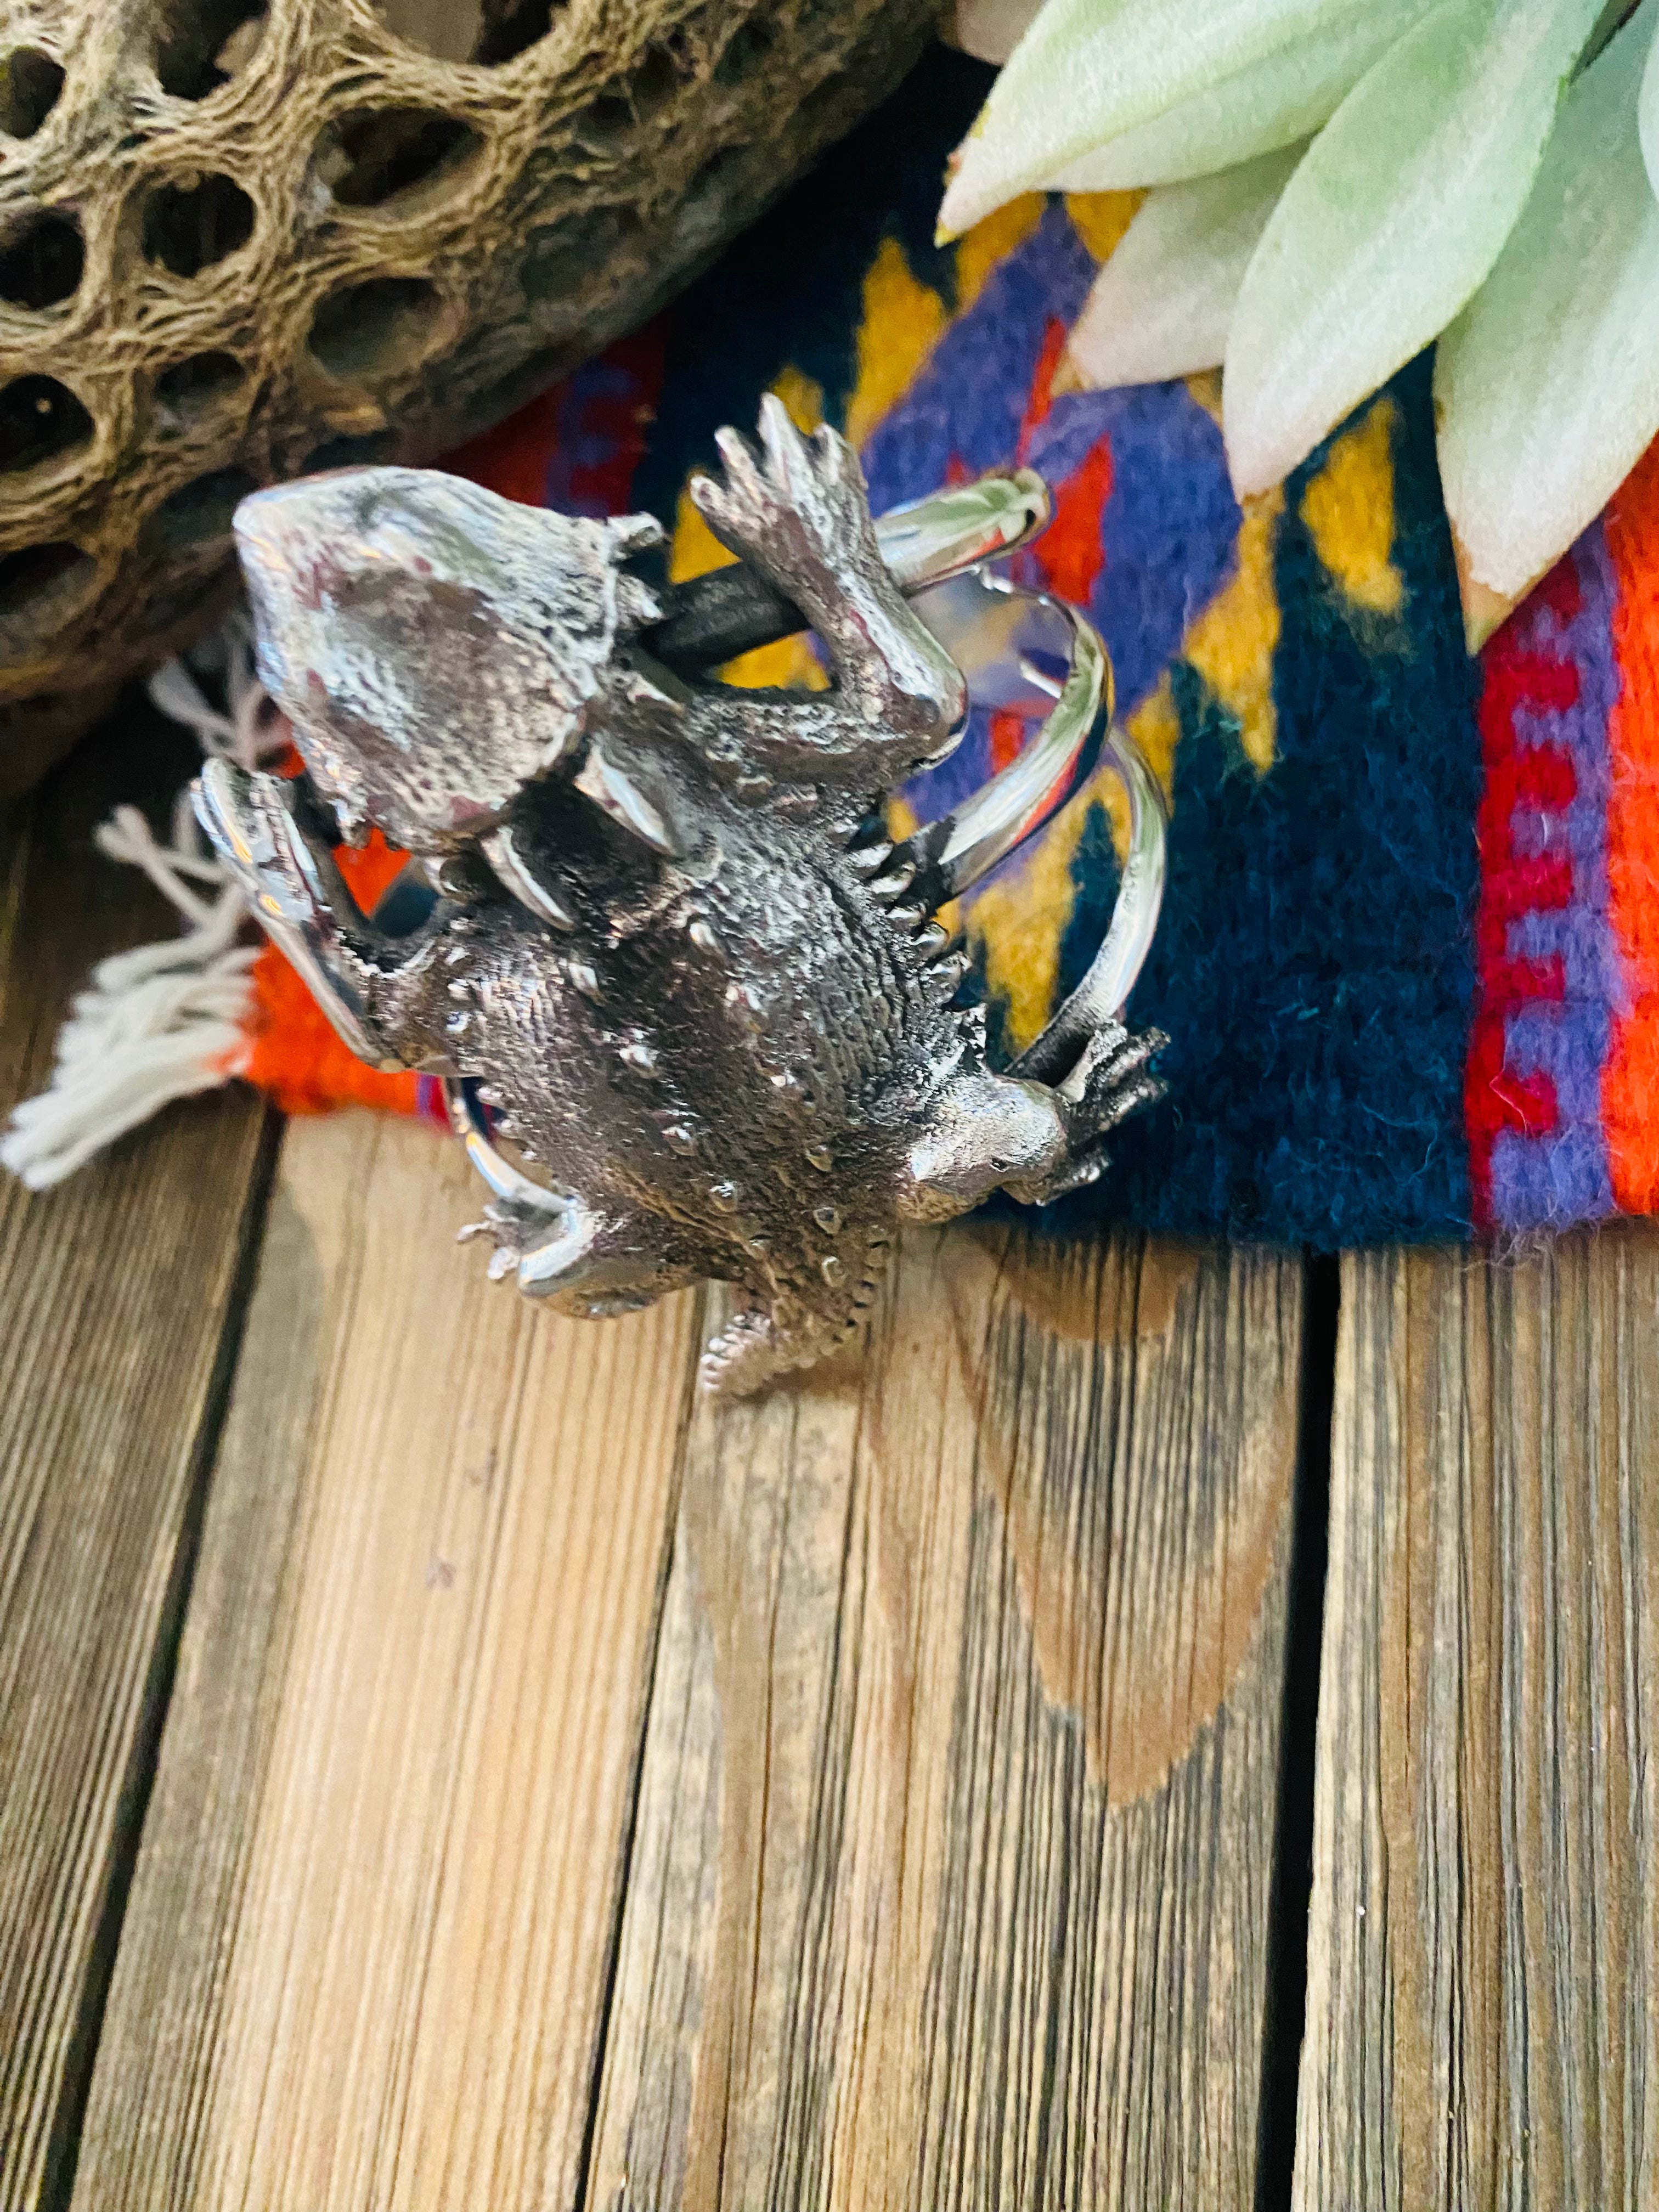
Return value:
M 1148 1228 L 1318 1250 L 1469 1234 L 1462 1082 L 1478 894 L 1478 666 L 1462 644 L 1427 361 L 1394 385 L 1396 650 L 1329 591 L 1287 484 L 1270 774 L 1177 664 L 1170 883 L 1130 1020 L 1170 1031 L 1170 1099 L 1128 1124 L 1106 1206 Z M 1099 942 L 1077 854 L 1062 987 Z

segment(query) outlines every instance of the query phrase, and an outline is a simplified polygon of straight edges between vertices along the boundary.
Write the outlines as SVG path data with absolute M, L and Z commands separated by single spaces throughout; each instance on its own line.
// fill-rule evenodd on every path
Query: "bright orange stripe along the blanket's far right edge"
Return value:
M 1606 513 L 1619 577 L 1613 650 L 1619 699 L 1608 721 L 1608 914 L 1624 953 L 1628 1011 L 1613 1024 L 1601 1117 L 1613 1197 L 1624 1212 L 1659 1210 L 1659 442 Z

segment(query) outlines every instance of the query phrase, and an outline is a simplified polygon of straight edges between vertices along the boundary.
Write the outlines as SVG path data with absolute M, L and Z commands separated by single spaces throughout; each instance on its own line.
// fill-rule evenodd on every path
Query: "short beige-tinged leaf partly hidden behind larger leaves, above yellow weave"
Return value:
M 1084 383 L 1157 385 L 1221 367 L 1243 272 L 1303 150 L 1146 195 L 1066 341 Z

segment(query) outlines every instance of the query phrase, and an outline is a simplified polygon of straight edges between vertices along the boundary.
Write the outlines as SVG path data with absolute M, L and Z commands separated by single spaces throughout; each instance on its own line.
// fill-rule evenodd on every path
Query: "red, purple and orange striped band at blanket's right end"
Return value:
M 1475 1214 L 1659 1203 L 1659 449 L 1484 653 Z

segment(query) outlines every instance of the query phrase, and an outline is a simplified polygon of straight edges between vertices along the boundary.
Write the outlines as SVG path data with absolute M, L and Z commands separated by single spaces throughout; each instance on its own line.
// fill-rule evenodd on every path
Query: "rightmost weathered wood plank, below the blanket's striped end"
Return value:
M 1659 2201 L 1659 1234 L 1343 1263 L 1301 2212 Z

